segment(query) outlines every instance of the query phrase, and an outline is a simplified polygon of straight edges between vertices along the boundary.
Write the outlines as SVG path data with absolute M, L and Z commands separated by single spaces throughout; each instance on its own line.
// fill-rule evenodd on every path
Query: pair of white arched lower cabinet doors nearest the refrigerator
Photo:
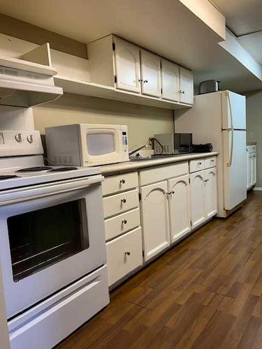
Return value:
M 191 228 L 217 214 L 217 168 L 190 175 Z

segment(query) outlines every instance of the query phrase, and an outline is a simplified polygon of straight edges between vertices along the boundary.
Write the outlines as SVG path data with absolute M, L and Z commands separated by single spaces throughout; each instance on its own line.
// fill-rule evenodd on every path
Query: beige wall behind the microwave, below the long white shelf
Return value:
M 129 129 L 129 148 L 148 142 L 154 133 L 173 132 L 173 111 L 65 94 L 57 101 L 34 107 L 35 128 L 75 123 L 123 124 Z

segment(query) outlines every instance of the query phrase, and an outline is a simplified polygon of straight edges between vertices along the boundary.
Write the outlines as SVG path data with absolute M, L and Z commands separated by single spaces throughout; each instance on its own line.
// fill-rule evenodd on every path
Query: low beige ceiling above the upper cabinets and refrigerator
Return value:
M 0 0 L 0 12 L 83 43 L 108 34 L 122 36 L 191 68 L 196 84 L 217 78 L 233 91 L 261 84 L 179 0 Z

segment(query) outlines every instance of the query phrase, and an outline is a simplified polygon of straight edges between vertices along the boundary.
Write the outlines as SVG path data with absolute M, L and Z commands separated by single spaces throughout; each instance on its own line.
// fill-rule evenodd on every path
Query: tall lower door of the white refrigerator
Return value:
M 247 198 L 246 131 L 223 131 L 224 209 L 231 210 Z

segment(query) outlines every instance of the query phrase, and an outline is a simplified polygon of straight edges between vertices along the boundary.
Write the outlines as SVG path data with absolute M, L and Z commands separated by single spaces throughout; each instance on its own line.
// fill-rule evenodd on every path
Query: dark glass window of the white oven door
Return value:
M 85 199 L 10 216 L 7 225 L 14 281 L 89 247 Z

